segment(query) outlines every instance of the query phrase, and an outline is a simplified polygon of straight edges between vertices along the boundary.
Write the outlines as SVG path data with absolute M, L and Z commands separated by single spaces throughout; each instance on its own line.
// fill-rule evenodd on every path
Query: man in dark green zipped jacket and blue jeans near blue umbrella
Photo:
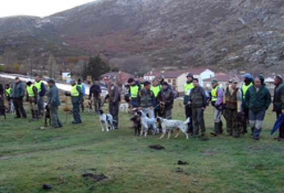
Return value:
M 258 76 L 254 79 L 254 85 L 249 87 L 246 93 L 246 105 L 249 108 L 249 124 L 252 131 L 252 139 L 259 140 L 265 111 L 269 108 L 271 96 L 265 87 L 264 78 Z

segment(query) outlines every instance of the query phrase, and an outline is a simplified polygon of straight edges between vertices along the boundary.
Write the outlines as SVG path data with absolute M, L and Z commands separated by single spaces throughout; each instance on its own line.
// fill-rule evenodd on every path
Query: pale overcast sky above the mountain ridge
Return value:
M 0 17 L 33 15 L 44 17 L 95 0 L 0 0 Z

